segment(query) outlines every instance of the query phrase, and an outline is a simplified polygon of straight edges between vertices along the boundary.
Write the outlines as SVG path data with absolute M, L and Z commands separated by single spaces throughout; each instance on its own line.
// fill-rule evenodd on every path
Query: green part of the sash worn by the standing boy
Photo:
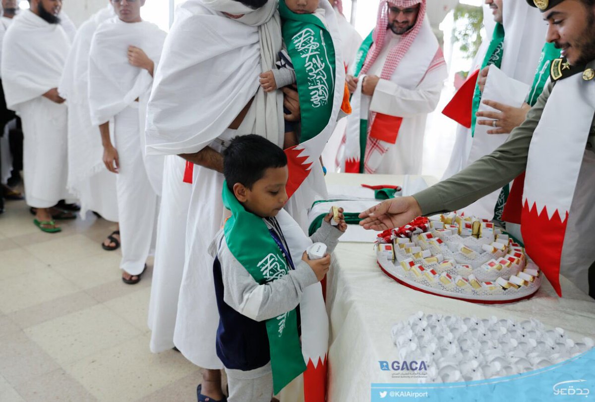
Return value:
M 275 240 L 261 217 L 245 210 L 223 183 L 223 203 L 231 211 L 224 226 L 227 246 L 259 284 L 286 276 L 291 267 L 289 251 Z M 285 254 L 285 255 L 284 255 Z M 273 388 L 277 394 L 306 370 L 297 333 L 296 309 L 266 321 Z

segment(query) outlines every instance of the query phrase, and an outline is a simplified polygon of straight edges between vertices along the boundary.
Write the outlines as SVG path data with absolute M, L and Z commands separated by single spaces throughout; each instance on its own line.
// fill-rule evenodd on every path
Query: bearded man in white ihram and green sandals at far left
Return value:
M 33 221 L 43 232 L 60 232 L 52 206 L 68 198 L 67 108 L 58 83 L 70 40 L 58 14 L 60 0 L 30 0 L 4 37 L 2 84 L 7 106 L 23 119 L 26 200 L 37 208 Z

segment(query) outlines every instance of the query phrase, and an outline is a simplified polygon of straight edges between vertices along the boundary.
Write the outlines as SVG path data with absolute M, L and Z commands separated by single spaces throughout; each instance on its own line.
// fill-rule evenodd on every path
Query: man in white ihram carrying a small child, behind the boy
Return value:
M 283 94 L 265 93 L 259 84 L 259 75 L 274 67 L 280 49 L 276 1 L 187 0 L 176 11 L 156 72 L 147 152 L 180 154 L 194 164 L 174 344 L 206 369 L 199 400 L 224 398 L 208 254 L 224 216 L 220 152 L 236 135 L 254 132 L 283 144 Z

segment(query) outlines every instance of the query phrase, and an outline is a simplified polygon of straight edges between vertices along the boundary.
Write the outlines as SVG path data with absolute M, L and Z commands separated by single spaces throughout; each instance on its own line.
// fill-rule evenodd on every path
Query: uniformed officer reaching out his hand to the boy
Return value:
M 384 230 L 458 210 L 526 169 L 522 194 L 508 202 L 522 210 L 527 254 L 559 296 L 574 285 L 595 298 L 595 0 L 527 1 L 548 23 L 547 42 L 562 49 L 527 119 L 493 153 L 412 197 L 370 208 L 361 224 Z

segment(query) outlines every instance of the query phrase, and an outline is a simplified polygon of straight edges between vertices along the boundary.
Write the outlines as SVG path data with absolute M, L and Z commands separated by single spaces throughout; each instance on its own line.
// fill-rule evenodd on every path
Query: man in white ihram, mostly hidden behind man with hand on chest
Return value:
M 116 176 L 105 168 L 104 147 L 89 113 L 91 40 L 99 24 L 114 16 L 114 8 L 108 4 L 82 24 L 68 54 L 58 93 L 68 105 L 68 190 L 80 200 L 83 218 L 87 211 L 95 211 L 104 219 L 117 222 Z M 114 239 L 107 239 L 104 249 L 116 249 L 119 245 L 115 237 L 118 232 L 110 236 Z

